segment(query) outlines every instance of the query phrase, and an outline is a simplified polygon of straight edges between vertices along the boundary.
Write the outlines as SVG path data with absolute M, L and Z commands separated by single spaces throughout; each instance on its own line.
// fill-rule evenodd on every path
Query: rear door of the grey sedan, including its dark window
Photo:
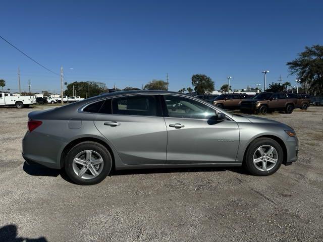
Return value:
M 159 99 L 154 95 L 127 95 L 105 100 L 95 120 L 123 163 L 166 163 L 167 130 Z

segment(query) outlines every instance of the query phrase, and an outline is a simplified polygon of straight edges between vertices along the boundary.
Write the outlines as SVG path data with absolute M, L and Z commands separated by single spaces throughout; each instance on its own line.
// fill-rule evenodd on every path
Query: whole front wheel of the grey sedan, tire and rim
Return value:
M 249 145 L 244 165 L 253 175 L 271 175 L 283 162 L 283 149 L 270 138 L 255 139 Z

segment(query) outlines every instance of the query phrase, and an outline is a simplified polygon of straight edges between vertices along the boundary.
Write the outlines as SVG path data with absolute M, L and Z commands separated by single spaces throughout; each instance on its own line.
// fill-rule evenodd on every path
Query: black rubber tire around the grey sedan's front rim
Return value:
M 268 171 L 262 171 L 256 168 L 256 165 L 253 163 L 253 155 L 256 152 L 256 150 L 261 147 L 261 146 L 265 146 L 265 145 L 270 145 L 272 147 L 274 147 L 278 153 L 278 161 L 276 162 L 276 164 L 273 166 L 273 168 L 271 168 Z M 244 160 L 244 166 L 245 168 L 252 174 L 252 175 L 271 175 L 273 173 L 275 173 L 279 167 L 282 165 L 283 162 L 283 156 L 284 156 L 284 152 L 282 147 L 280 146 L 280 144 L 270 138 L 258 138 L 255 139 L 254 141 L 252 141 L 246 151 L 246 155 L 245 155 L 245 160 Z

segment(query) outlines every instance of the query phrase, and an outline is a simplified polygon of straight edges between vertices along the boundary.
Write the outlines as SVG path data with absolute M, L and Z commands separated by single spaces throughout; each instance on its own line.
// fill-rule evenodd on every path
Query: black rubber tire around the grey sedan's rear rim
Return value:
M 73 159 L 75 156 L 84 151 L 92 150 L 97 152 L 103 159 L 103 169 L 96 177 L 91 179 L 84 179 L 79 177 L 73 170 Z M 92 142 L 85 141 L 75 145 L 67 154 L 65 159 L 65 171 L 68 177 L 78 185 L 94 185 L 100 183 L 107 175 L 109 175 L 112 169 L 112 157 L 109 150 L 106 149 L 103 145 Z

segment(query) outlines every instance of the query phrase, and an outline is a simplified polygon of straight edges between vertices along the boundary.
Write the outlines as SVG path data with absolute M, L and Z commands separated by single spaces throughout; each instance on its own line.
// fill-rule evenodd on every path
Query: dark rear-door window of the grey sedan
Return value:
M 120 115 L 157 116 L 154 96 L 129 96 L 112 100 L 112 113 Z

